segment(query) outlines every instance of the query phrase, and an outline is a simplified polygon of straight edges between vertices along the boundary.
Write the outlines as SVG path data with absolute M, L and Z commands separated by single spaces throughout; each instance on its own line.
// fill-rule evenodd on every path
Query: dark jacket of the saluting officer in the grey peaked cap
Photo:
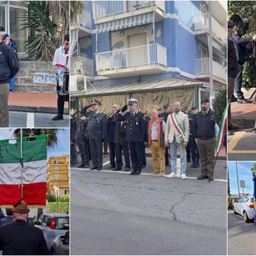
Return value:
M 107 135 L 106 114 L 102 113 L 102 111 L 98 111 L 96 114 L 92 110 L 86 110 L 86 108 L 82 109 L 81 114 L 89 118 L 86 128 L 86 134 L 88 135 L 88 138 L 105 141 Z

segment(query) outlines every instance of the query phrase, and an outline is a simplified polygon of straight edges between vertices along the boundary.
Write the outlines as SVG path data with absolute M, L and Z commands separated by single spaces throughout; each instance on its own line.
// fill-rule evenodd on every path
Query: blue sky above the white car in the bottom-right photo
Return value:
M 245 181 L 244 193 L 254 194 L 253 175 L 250 171 L 256 162 L 228 162 L 229 178 L 230 178 L 230 194 L 238 194 L 238 183 L 240 194 L 242 194 L 242 187 L 240 181 Z M 236 167 L 238 166 L 238 168 Z M 238 169 L 238 178 L 237 178 Z

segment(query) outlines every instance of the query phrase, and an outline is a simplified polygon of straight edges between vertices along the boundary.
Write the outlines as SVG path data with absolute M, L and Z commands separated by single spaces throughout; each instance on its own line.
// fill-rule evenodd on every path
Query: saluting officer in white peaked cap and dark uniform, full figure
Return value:
M 117 121 L 126 121 L 126 140 L 129 143 L 132 172 L 130 175 L 141 174 L 142 171 L 142 145 L 145 138 L 145 120 L 137 107 L 138 100 L 130 98 L 128 106 L 123 106 L 118 114 Z

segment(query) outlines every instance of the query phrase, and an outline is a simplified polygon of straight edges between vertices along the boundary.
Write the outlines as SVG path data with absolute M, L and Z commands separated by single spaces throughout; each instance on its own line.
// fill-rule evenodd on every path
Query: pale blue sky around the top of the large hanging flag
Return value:
M 0 140 L 12 138 L 14 129 L 0 129 Z M 70 152 L 70 135 L 69 129 L 60 129 L 58 131 L 58 145 L 47 148 L 47 158 L 50 156 L 58 156 L 62 154 L 69 154 Z

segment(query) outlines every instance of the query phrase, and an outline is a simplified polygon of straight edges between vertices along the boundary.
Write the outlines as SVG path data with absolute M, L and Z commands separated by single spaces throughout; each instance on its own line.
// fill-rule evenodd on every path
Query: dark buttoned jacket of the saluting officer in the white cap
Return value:
M 140 111 L 136 111 L 134 116 L 132 113 L 118 114 L 118 121 L 126 121 L 126 140 L 127 142 L 144 142 L 146 138 L 146 122 L 144 115 Z

